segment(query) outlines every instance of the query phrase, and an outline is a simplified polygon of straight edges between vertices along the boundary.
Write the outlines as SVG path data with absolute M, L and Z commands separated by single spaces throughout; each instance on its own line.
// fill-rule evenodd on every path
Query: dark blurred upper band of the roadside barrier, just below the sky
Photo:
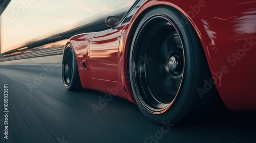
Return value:
M 123 9 L 121 11 L 105 13 L 104 15 L 99 15 L 99 16 L 82 20 L 77 24 L 75 24 L 74 26 L 61 28 L 48 35 L 39 36 L 29 41 L 15 45 L 14 46 L 15 49 L 5 52 L 3 54 L 7 55 L 15 52 L 20 52 L 19 50 L 24 47 L 27 47 L 26 50 L 30 50 L 30 49 L 33 49 L 34 47 L 38 47 L 48 43 L 60 41 L 63 39 L 69 39 L 70 37 L 76 34 L 107 30 L 109 29 L 109 27 L 106 26 L 105 24 L 105 18 L 108 16 L 118 16 L 121 18 L 125 14 L 125 12 L 126 12 L 126 9 Z

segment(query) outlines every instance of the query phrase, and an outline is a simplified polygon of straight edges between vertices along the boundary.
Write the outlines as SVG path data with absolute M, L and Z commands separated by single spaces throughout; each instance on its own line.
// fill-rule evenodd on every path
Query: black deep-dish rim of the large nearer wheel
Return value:
M 148 112 L 164 113 L 174 104 L 182 86 L 182 39 L 173 22 L 158 15 L 143 23 L 134 45 L 132 75 L 138 100 Z

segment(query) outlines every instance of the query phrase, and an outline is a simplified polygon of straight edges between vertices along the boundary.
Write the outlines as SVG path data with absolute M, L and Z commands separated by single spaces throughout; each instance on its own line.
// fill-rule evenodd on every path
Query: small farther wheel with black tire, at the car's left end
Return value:
M 76 56 L 72 44 L 66 45 L 62 59 L 62 81 L 69 91 L 81 90 Z

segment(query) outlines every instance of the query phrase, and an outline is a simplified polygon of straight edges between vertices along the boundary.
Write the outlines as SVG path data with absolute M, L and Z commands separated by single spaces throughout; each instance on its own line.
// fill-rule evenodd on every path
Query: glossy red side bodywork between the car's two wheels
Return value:
M 135 103 L 121 75 L 119 42 L 122 29 L 106 30 L 98 33 L 80 34 L 70 38 L 76 53 L 78 71 L 83 88 L 110 93 Z M 82 62 L 87 60 L 88 70 L 83 69 Z M 98 67 L 98 68 L 97 68 Z M 120 67 L 120 68 L 118 68 Z

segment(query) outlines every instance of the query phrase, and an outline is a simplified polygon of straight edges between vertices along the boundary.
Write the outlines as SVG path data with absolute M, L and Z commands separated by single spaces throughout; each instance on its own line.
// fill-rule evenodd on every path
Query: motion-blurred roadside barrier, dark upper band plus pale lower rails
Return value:
M 45 45 L 48 43 L 60 41 L 63 39 L 69 39 L 70 37 L 80 34 L 80 33 L 88 33 L 88 32 L 98 32 L 109 29 L 108 26 L 105 25 L 105 18 L 108 16 L 118 16 L 122 17 L 125 14 L 126 10 L 123 9 L 118 12 L 106 13 L 97 18 L 89 18 L 86 20 L 82 20 L 78 22 L 78 25 L 72 29 L 66 29 L 64 32 L 53 33 L 48 36 L 41 36 L 25 43 L 17 45 L 16 49 L 3 53 L 12 54 L 15 52 L 22 52 L 20 54 L 11 55 L 7 57 L 0 58 L 0 62 L 11 61 L 11 60 L 20 60 L 20 59 L 28 59 L 28 58 L 36 58 L 36 57 L 45 57 L 45 56 L 53 56 L 60 55 L 63 51 L 63 46 L 51 47 L 49 49 L 34 49 L 35 47 Z M 59 30 L 63 31 L 63 29 Z M 43 38 L 42 38 L 43 37 Z M 26 53 L 24 51 L 19 51 L 20 48 L 27 47 L 26 51 L 31 50 L 32 52 Z M 34 49 L 34 50 L 33 50 Z

